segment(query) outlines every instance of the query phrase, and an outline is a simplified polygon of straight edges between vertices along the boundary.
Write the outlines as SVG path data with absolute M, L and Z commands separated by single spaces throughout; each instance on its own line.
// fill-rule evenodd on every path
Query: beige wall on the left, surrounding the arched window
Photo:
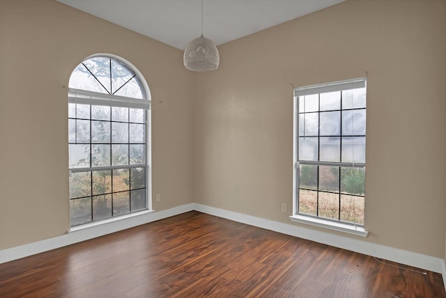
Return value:
M 84 58 L 115 54 L 151 89 L 153 194 L 192 201 L 193 75 L 182 52 L 55 0 L 0 1 L 0 249 L 66 233 L 68 79 Z

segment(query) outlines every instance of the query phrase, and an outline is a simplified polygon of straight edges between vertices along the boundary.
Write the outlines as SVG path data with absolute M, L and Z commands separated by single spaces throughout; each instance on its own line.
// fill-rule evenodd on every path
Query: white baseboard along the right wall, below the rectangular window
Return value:
M 357 253 L 364 253 L 368 256 L 383 258 L 385 260 L 390 260 L 393 262 L 399 262 L 401 264 L 429 270 L 432 272 L 443 272 L 443 279 L 445 279 L 446 276 L 444 269 L 445 261 L 442 258 L 426 256 L 422 253 L 405 251 L 403 249 L 395 249 L 390 246 L 374 244 L 364 240 L 344 237 L 329 232 L 321 232 L 319 230 L 296 226 L 294 224 L 283 224 L 278 221 L 270 221 L 268 219 L 262 219 L 260 217 L 253 217 L 250 215 L 222 210 L 219 208 L 209 207 L 197 203 L 192 204 L 193 209 L 199 212 L 215 215 L 217 217 L 223 217 L 232 221 L 238 221 L 243 224 L 249 224 L 251 226 L 257 226 L 259 228 L 265 228 L 267 230 L 273 230 L 275 232 L 286 235 L 300 237 L 306 240 L 312 240 L 314 242 L 322 244 L 328 244 L 330 246 L 339 247 L 340 249 L 355 251 Z

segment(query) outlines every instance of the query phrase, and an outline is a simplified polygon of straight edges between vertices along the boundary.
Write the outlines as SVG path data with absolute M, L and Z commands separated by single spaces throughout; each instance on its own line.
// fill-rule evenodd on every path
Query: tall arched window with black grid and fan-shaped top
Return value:
M 148 209 L 150 93 L 114 56 L 91 56 L 68 92 L 71 226 Z

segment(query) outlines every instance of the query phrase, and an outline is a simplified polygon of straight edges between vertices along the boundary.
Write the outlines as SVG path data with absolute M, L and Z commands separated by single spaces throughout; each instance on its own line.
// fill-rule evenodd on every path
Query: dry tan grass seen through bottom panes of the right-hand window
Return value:
M 364 197 L 341 194 L 339 206 L 339 194 L 317 191 L 299 190 L 299 212 L 309 215 L 318 214 L 319 217 L 338 219 L 339 207 L 341 208 L 341 221 L 349 221 L 356 224 L 364 224 Z M 318 213 L 316 209 L 318 208 Z

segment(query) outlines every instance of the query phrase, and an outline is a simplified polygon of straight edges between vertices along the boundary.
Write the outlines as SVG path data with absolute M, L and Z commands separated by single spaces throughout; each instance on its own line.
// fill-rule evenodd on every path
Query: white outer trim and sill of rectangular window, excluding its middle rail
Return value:
M 331 221 L 323 219 L 323 217 L 312 217 L 298 213 L 298 123 L 299 117 L 296 117 L 294 113 L 298 111 L 298 96 L 309 95 L 331 91 L 341 91 L 348 86 L 363 87 L 367 83 L 367 78 L 360 77 L 357 79 L 347 79 L 343 81 L 334 81 L 330 84 L 316 84 L 311 86 L 303 86 L 293 89 L 293 215 L 289 217 L 291 221 L 299 224 L 307 224 L 309 226 L 316 226 L 318 228 L 326 228 L 329 230 L 335 230 L 341 233 L 348 233 L 351 235 L 357 235 L 361 237 L 367 237 L 369 232 L 364 226 L 357 226 L 355 224 L 346 224 L 342 221 Z M 365 164 L 364 164 L 365 165 Z

